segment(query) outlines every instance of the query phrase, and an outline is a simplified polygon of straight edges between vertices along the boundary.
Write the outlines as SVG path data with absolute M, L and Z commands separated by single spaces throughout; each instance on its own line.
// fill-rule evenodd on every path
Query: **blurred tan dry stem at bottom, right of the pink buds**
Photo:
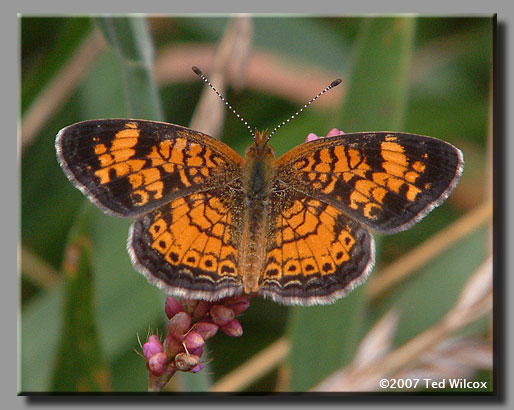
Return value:
M 220 379 L 211 387 L 213 392 L 241 391 L 259 377 L 278 366 L 287 356 L 290 342 L 282 337 L 263 349 L 250 360 Z

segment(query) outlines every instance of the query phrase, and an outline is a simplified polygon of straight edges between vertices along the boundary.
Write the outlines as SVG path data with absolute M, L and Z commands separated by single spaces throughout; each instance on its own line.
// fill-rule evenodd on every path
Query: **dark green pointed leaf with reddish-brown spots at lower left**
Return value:
M 91 267 L 91 209 L 83 211 L 71 234 L 64 259 L 62 329 L 52 391 L 106 391 L 109 370 L 101 355 L 95 317 Z

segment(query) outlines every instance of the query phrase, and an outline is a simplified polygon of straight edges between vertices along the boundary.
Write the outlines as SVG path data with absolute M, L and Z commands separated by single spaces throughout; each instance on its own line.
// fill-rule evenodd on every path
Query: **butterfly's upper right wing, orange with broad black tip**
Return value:
M 408 229 L 440 205 L 463 167 L 453 145 L 393 132 L 318 139 L 277 160 L 286 186 L 384 233 Z

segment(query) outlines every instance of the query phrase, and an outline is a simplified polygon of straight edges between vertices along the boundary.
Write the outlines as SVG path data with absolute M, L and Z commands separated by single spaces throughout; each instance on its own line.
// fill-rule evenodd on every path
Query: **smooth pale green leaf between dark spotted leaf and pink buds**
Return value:
M 148 328 L 161 325 L 165 317 L 165 295 L 130 263 L 125 245 L 130 222 L 96 209 L 92 222 L 100 337 L 112 355 L 139 348 L 137 335 L 144 339 Z

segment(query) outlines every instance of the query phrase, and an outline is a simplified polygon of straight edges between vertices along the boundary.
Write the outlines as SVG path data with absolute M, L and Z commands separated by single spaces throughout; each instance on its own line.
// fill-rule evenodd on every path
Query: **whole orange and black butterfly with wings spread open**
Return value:
M 61 130 L 68 179 L 108 214 L 137 218 L 128 252 L 167 293 L 218 300 L 257 294 L 330 303 L 369 275 L 370 230 L 410 228 L 453 191 L 460 150 L 401 132 L 306 142 L 276 159 L 256 131 L 245 158 L 178 125 L 84 121 Z

